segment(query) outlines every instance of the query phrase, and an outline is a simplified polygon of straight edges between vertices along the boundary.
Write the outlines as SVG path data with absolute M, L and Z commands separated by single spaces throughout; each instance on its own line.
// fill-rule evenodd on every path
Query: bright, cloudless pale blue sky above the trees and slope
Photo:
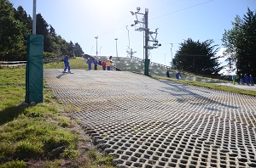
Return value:
M 30 0 L 10 0 L 14 7 L 22 6 L 32 16 Z M 129 45 L 143 58 L 143 31 L 131 27 L 135 15 L 130 11 L 148 8 L 148 27 L 158 30 L 160 48 L 150 50 L 149 59 L 169 64 L 179 43 L 187 40 L 200 42 L 212 39 L 221 48 L 224 30 L 232 28 L 236 15 L 243 17 L 247 8 L 256 10 L 256 0 L 37 0 L 37 14 L 55 28 L 67 42 L 79 42 L 84 53 L 96 55 L 126 56 Z M 173 46 L 171 45 L 173 44 Z M 171 53 L 172 46 L 172 53 Z

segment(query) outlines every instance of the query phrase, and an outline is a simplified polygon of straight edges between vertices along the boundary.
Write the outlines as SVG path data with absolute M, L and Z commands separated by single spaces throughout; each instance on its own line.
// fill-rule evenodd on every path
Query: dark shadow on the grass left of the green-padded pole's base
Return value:
M 18 106 L 12 106 L 0 111 L 0 126 L 7 122 L 17 118 L 24 110 L 29 107 L 29 104 L 20 104 Z

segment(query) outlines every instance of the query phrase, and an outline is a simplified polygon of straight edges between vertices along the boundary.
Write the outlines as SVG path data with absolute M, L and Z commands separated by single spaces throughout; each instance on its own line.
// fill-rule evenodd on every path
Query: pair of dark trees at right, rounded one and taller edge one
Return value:
M 251 74 L 256 76 L 256 14 L 247 8 L 247 14 L 236 15 L 232 29 L 224 30 L 223 47 L 230 70 L 237 75 Z M 195 74 L 218 76 L 223 69 L 219 67 L 216 55 L 218 48 L 212 40 L 193 41 L 191 38 L 180 43 L 180 47 L 172 60 L 172 67 Z M 216 49 L 215 49 L 216 48 Z

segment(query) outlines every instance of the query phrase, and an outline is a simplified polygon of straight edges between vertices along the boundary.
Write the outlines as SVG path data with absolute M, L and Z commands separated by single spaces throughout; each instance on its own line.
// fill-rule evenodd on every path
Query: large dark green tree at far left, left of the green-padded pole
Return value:
M 13 5 L 8 0 L 0 0 L 0 58 L 24 60 L 26 56 L 24 36 L 28 34 L 26 25 L 15 20 Z

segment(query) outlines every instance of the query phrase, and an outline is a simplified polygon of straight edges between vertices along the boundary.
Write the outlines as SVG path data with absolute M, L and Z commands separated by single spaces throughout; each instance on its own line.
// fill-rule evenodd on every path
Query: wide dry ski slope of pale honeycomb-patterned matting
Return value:
M 118 167 L 256 167 L 256 98 L 118 71 L 44 70 Z

